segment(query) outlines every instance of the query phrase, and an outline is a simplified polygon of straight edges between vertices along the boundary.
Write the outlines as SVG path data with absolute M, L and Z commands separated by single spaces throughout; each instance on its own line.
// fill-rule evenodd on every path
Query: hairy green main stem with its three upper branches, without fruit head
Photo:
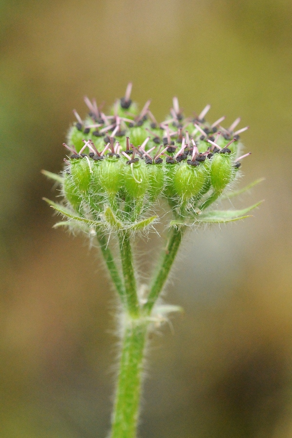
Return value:
M 105 236 L 98 236 L 102 254 L 123 304 L 123 338 L 110 438 L 135 438 L 141 395 L 144 350 L 147 342 L 147 316 L 162 291 L 182 241 L 185 227 L 173 227 L 144 308 L 139 306 L 133 266 L 130 233 L 119 233 L 124 284 L 108 248 Z

